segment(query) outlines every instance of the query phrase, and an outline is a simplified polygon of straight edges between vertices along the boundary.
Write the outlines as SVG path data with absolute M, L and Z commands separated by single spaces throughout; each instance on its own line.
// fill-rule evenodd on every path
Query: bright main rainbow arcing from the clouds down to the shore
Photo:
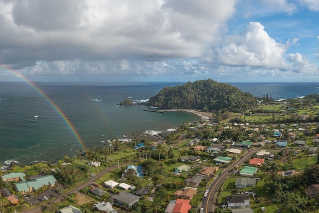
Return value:
M 78 143 L 80 144 L 81 148 L 83 150 L 85 150 L 85 145 L 79 135 L 79 133 L 76 131 L 76 129 L 74 128 L 73 124 L 71 123 L 71 121 L 68 119 L 68 117 L 66 117 L 66 115 L 64 114 L 64 112 L 58 107 L 58 105 L 56 105 L 54 103 L 54 101 L 48 96 L 46 95 L 39 87 L 37 87 L 33 82 L 31 82 L 30 80 L 28 80 L 26 77 L 24 77 L 23 75 L 21 75 L 20 73 L 16 72 L 15 70 L 12 70 L 10 68 L 8 68 L 7 66 L 0 64 L 0 68 L 2 70 L 8 71 L 9 73 L 13 74 L 14 76 L 18 77 L 19 79 L 21 79 L 22 81 L 24 81 L 26 84 L 28 84 L 29 86 L 31 86 L 35 91 L 37 91 L 41 96 L 43 96 L 47 102 L 54 108 L 54 110 L 61 116 L 61 118 L 63 119 L 63 121 L 65 122 L 65 124 L 68 126 L 68 128 L 71 130 L 72 134 L 75 136 L 76 140 L 78 141 Z

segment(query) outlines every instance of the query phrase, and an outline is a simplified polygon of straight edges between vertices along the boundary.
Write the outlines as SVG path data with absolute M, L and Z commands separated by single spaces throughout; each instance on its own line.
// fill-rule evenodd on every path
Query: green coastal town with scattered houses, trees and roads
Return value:
M 319 106 L 291 105 L 219 117 L 197 112 L 200 121 L 160 140 L 116 139 L 55 164 L 2 167 L 0 211 L 317 212 Z M 293 117 L 302 122 L 284 122 Z

